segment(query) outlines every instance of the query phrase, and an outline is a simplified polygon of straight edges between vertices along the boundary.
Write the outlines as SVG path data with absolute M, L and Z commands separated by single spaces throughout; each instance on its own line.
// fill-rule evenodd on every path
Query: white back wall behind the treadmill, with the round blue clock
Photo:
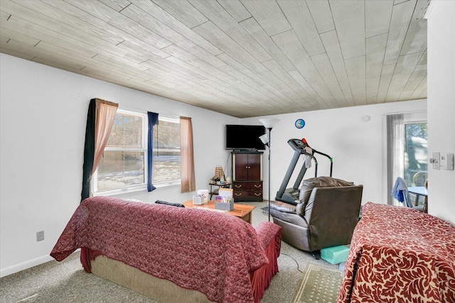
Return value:
M 276 115 L 280 119 L 272 130 L 271 199 L 277 194 L 286 175 L 294 150 L 287 141 L 306 138 L 311 148 L 333 158 L 333 177 L 363 184 L 362 203 L 387 203 L 385 186 L 385 115 L 411 111 L 426 111 L 427 101 L 403 101 L 389 104 L 346 107 L 296 114 Z M 370 121 L 363 122 L 363 116 Z M 260 124 L 259 118 L 242 119 L 242 124 Z M 306 125 L 298 129 L 296 119 L 304 119 Z M 268 176 L 268 151 L 264 153 L 264 179 Z M 319 162 L 318 176 L 329 175 L 330 161 L 316 154 Z M 299 160 L 287 187 L 292 187 L 303 160 Z M 314 177 L 314 165 L 306 171 L 304 179 Z M 264 197 L 268 184 L 264 182 Z

